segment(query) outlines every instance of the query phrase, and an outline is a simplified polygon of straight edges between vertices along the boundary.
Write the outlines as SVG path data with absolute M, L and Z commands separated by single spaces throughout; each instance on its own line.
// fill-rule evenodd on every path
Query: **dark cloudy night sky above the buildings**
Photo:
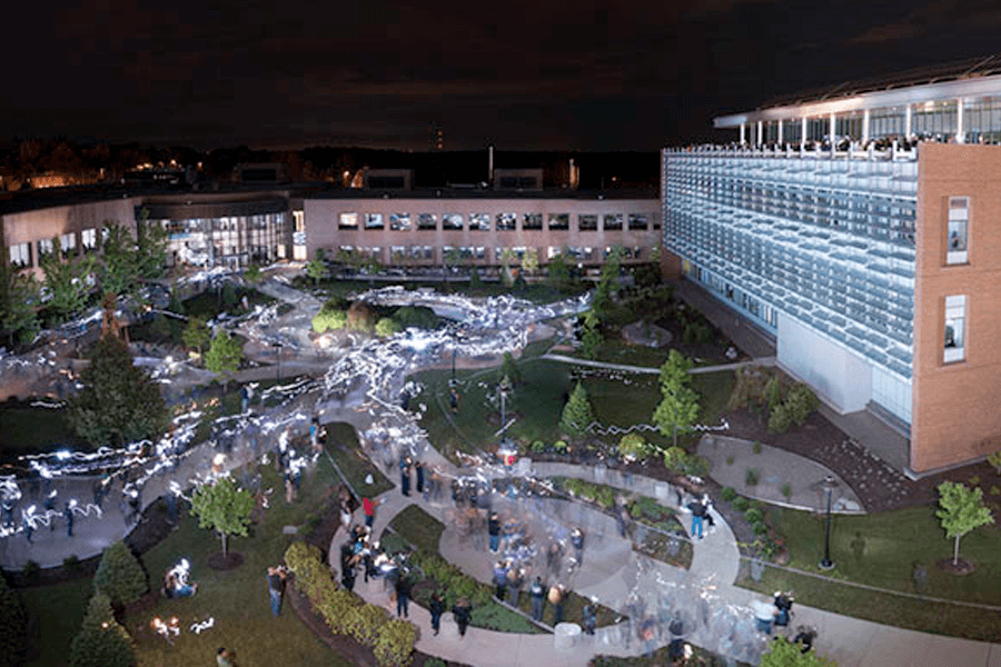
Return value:
M 656 150 L 769 98 L 1001 51 L 993 0 L 21 0 L 0 139 Z M 60 6 L 62 9 L 60 9 Z

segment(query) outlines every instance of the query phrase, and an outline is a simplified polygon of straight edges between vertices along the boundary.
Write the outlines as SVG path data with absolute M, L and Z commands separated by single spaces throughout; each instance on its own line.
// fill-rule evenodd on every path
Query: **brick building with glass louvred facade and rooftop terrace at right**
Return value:
M 1001 59 L 844 83 L 715 119 L 662 155 L 676 270 L 772 337 L 922 474 L 1001 448 Z

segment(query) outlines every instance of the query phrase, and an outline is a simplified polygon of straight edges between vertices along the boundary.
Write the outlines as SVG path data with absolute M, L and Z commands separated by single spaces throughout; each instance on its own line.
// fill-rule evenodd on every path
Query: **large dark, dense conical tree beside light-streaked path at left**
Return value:
M 80 372 L 83 389 L 68 406 L 77 434 L 95 446 L 157 439 L 167 428 L 167 405 L 159 386 L 132 364 L 126 342 L 107 331 L 88 357 L 90 365 Z

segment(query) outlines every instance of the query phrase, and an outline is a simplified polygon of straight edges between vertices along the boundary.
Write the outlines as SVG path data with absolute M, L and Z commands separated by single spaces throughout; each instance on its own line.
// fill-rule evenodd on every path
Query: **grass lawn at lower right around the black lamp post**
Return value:
M 780 508 L 767 514 L 767 522 L 790 546 L 790 566 L 819 571 L 824 546 L 822 519 Z M 834 516 L 831 558 L 836 568 L 829 576 L 919 593 L 914 569 L 921 566 L 928 573 L 921 591 L 924 595 L 997 606 L 1001 599 L 1001 531 L 988 526 L 961 540 L 960 556 L 977 563 L 977 570 L 970 575 L 950 575 L 936 566 L 940 559 L 952 556 L 952 545 L 931 506 L 858 517 Z M 785 587 L 793 588 L 797 600 L 805 605 L 860 618 L 992 641 L 1001 638 L 1001 613 L 879 594 L 774 568 L 769 568 L 761 586 L 754 586 L 764 591 Z

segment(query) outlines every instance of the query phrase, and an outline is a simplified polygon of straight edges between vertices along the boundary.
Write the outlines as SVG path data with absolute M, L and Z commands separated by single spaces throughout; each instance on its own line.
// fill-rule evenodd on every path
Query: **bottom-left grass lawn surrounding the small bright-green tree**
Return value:
M 272 466 L 261 468 L 262 487 L 280 488 L 278 474 Z M 192 579 L 199 590 L 191 598 L 168 600 L 159 598 L 157 605 L 141 613 L 127 616 L 123 621 L 136 640 L 139 666 L 210 665 L 220 646 L 236 654 L 240 667 L 272 665 L 329 665 L 341 667 L 349 663 L 333 653 L 299 620 L 286 604 L 279 618 L 272 618 L 268 608 L 265 571 L 277 565 L 291 537 L 281 534 L 286 525 L 301 525 L 307 516 L 327 502 L 327 494 L 334 484 L 334 470 L 320 459 L 316 470 L 303 480 L 300 500 L 286 505 L 283 495 L 271 496 L 270 508 L 262 521 L 250 528 L 249 537 L 234 537 L 230 549 L 240 551 L 244 564 L 234 570 L 217 571 L 208 567 L 209 554 L 220 550 L 219 539 L 209 530 L 198 528 L 197 521 L 186 517 L 180 527 L 157 547 L 142 556 L 150 575 L 150 585 L 157 589 L 163 573 L 181 558 L 191 563 Z M 69 656 L 69 643 L 78 631 L 82 605 L 89 593 L 89 580 L 31 590 L 26 598 L 34 617 L 46 620 L 39 627 L 38 646 L 42 655 L 37 665 L 61 665 Z M 59 609 L 59 613 L 54 610 Z M 66 616 L 65 621 L 58 615 Z M 57 616 L 57 618 L 51 618 Z M 181 633 L 175 645 L 152 633 L 150 620 L 160 616 L 176 616 Z M 188 628 L 196 620 L 211 617 L 211 628 L 196 635 Z

